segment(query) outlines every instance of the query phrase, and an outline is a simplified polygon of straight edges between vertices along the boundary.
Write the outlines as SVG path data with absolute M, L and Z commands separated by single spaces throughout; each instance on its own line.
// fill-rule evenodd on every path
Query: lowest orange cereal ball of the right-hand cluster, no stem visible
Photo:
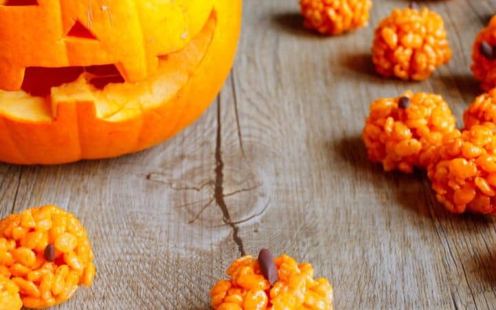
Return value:
M 437 200 L 454 213 L 496 214 L 496 125 L 473 125 L 444 137 L 428 167 Z

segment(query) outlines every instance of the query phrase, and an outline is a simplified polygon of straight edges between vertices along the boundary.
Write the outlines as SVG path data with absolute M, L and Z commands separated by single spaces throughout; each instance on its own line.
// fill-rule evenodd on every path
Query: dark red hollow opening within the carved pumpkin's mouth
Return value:
M 25 70 L 21 89 L 32 96 L 48 96 L 52 87 L 73 82 L 84 72 L 90 75 L 88 83 L 99 90 L 103 90 L 110 83 L 125 82 L 115 65 L 67 68 L 30 67 Z

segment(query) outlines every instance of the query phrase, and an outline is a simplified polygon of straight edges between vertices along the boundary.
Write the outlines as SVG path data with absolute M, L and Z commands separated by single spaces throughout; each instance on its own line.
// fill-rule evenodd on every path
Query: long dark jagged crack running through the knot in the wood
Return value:
M 231 227 L 233 230 L 233 240 L 238 245 L 238 251 L 241 256 L 245 256 L 245 247 L 242 242 L 242 238 L 239 236 L 239 227 L 231 220 L 231 214 L 229 214 L 229 210 L 227 209 L 227 204 L 224 200 L 224 162 L 222 158 L 222 121 L 220 115 L 220 94 L 217 103 L 217 139 L 216 139 L 216 182 L 215 182 L 215 191 L 214 198 L 220 211 L 223 213 L 223 222 Z

